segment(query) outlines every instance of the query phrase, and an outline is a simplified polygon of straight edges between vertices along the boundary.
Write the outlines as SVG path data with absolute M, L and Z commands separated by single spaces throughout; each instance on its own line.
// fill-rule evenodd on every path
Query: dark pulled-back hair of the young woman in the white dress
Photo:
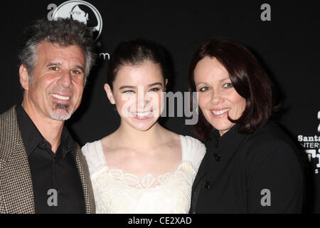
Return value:
M 164 80 L 169 77 L 169 63 L 165 49 L 154 41 L 143 38 L 122 41 L 114 49 L 107 67 L 107 83 L 113 89 L 112 83 L 117 71 L 122 66 L 139 66 L 144 61 L 158 63 Z

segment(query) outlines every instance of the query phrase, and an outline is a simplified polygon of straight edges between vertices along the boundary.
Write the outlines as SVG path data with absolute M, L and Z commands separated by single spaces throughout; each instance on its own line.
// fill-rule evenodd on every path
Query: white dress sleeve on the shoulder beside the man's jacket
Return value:
M 98 167 L 105 165 L 103 157 L 101 141 L 87 142 L 82 148 L 82 154 L 85 155 L 90 176 L 97 170 Z

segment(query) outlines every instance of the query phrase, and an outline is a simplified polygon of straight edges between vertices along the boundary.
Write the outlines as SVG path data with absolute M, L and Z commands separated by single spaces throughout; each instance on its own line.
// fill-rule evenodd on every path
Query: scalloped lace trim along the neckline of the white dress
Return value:
M 193 167 L 190 162 L 183 161 L 180 162 L 176 170 L 172 172 L 166 172 L 164 175 L 159 175 L 157 177 L 154 177 L 154 175 L 147 174 L 142 177 L 134 175 L 132 173 L 126 173 L 123 172 L 123 170 L 120 169 L 112 169 L 109 170 L 107 165 L 101 165 L 96 172 L 94 172 L 91 175 L 91 179 L 95 180 L 100 174 L 104 173 L 105 175 L 110 176 L 110 178 L 114 180 L 121 180 L 124 182 L 127 187 L 134 187 L 139 189 L 145 189 L 145 188 L 153 188 L 153 187 L 160 187 L 162 184 L 164 184 L 167 180 L 170 179 L 173 175 L 181 174 L 185 175 L 184 172 L 181 172 L 181 168 L 183 168 L 183 165 L 188 165 L 189 168 L 193 170 Z M 196 171 L 193 170 L 193 174 L 196 174 Z

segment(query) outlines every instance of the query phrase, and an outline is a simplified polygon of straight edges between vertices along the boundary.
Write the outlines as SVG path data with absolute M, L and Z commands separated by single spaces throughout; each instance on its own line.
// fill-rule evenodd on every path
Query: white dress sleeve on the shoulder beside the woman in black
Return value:
M 203 156 L 206 154 L 206 146 L 190 136 L 181 137 L 183 161 L 191 162 L 193 169 L 198 172 Z

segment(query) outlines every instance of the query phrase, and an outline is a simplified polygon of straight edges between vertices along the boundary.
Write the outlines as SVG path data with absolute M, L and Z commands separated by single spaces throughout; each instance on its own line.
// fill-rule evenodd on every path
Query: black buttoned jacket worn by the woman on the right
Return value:
M 301 213 L 304 172 L 294 142 L 276 123 L 254 133 L 235 126 L 206 142 L 191 213 Z

